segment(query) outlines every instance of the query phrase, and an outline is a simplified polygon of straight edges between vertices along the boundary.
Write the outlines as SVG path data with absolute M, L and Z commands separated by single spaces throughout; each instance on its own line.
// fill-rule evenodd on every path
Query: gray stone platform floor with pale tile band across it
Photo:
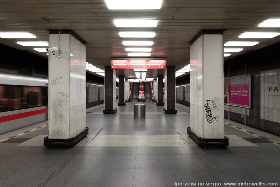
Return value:
M 178 114 L 163 114 L 162 106 L 148 103 L 143 120 L 133 119 L 130 103 L 118 106 L 116 114 L 93 108 L 86 112 L 89 135 L 72 148 L 43 146 L 47 122 L 0 135 L 0 186 L 280 184 L 280 137 L 225 120 L 230 145 L 204 149 L 187 135 L 186 106 L 178 104 Z

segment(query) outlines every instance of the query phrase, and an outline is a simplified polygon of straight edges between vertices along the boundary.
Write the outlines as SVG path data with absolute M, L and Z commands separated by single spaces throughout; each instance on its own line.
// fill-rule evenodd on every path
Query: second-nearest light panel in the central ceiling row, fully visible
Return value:
M 157 20 L 114 20 L 116 27 L 156 27 Z

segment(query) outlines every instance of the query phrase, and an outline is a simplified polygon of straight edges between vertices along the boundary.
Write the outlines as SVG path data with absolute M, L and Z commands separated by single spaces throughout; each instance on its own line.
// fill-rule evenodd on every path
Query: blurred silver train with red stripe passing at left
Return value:
M 0 73 L 0 134 L 48 119 L 48 79 Z

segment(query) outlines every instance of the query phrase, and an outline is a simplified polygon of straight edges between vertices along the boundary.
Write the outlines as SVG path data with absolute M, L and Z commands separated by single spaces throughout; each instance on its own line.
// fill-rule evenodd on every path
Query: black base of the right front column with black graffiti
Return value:
M 228 137 L 225 138 L 201 138 L 198 137 L 189 127 L 187 128 L 187 133 L 198 146 L 202 147 L 226 147 L 228 146 Z

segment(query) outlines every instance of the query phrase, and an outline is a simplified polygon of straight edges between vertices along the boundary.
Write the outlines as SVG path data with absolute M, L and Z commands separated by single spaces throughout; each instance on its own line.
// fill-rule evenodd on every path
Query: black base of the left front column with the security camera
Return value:
M 48 137 L 44 137 L 44 146 L 46 147 L 71 147 L 77 144 L 80 140 L 82 140 L 88 134 L 88 127 L 85 130 L 77 134 L 72 138 L 63 138 L 63 139 L 49 139 Z

